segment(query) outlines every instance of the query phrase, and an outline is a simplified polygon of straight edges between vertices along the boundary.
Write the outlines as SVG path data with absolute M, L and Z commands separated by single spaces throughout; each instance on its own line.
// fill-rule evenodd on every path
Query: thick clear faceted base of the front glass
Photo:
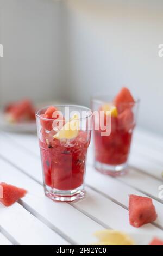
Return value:
M 75 190 L 56 190 L 44 185 L 45 195 L 53 201 L 73 202 L 85 197 L 84 186 L 80 186 Z

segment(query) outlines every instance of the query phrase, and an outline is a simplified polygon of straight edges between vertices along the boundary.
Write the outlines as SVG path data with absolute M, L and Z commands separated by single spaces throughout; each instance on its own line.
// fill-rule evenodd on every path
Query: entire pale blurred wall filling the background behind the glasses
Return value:
M 26 95 L 89 106 L 126 84 L 141 98 L 139 125 L 163 135 L 161 0 L 0 3 L 2 103 Z

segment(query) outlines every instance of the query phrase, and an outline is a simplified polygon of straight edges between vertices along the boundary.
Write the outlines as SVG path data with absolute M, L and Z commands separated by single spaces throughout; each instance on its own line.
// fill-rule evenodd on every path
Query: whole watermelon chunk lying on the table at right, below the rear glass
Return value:
M 131 195 L 129 198 L 129 221 L 133 227 L 139 228 L 157 218 L 152 199 Z

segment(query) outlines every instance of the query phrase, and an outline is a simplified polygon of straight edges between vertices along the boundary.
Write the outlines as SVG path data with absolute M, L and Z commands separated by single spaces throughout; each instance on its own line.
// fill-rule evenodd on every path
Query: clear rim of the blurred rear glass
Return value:
M 114 105 L 118 105 L 118 106 L 123 106 L 123 105 L 129 105 L 129 106 L 134 106 L 134 105 L 138 105 L 139 103 L 140 103 L 140 99 L 139 99 L 139 97 L 138 98 L 136 98 L 136 100 L 134 101 L 134 102 L 122 102 L 122 103 L 117 103 L 117 104 L 115 104 L 114 102 L 113 102 L 113 100 L 101 100 L 101 99 L 99 99 L 100 97 L 103 97 L 103 96 L 105 96 L 105 97 L 108 97 L 108 99 L 110 98 L 110 99 L 114 99 L 114 97 L 112 97 L 111 95 L 107 95 L 107 94 L 95 94 L 95 95 L 92 95 L 91 96 L 91 102 L 95 102 L 95 103 L 99 103 L 99 104 L 102 104 L 102 103 L 113 103 Z

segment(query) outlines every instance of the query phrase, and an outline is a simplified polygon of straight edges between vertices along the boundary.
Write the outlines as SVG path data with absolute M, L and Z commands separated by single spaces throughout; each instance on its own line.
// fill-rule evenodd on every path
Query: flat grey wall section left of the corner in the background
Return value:
M 0 0 L 1 104 L 60 97 L 60 1 Z

